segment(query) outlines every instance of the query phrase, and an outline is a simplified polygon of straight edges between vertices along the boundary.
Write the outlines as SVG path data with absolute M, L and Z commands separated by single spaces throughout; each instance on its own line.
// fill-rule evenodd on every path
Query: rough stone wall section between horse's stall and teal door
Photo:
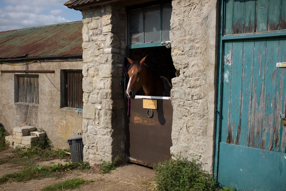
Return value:
M 171 153 L 198 158 L 212 172 L 214 153 L 217 1 L 172 1 Z

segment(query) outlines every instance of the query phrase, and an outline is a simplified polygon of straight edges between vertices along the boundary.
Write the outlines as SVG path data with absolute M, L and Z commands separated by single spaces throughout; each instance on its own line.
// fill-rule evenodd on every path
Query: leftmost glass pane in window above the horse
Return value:
M 143 9 L 129 11 L 129 44 L 143 42 Z

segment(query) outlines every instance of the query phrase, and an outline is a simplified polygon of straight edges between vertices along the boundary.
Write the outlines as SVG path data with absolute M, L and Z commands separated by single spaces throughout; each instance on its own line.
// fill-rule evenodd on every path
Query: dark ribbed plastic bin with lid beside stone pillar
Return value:
M 79 162 L 84 160 L 84 144 L 82 143 L 82 135 L 76 135 L 74 137 L 68 138 L 67 143 L 69 143 L 69 150 L 71 151 L 72 162 Z

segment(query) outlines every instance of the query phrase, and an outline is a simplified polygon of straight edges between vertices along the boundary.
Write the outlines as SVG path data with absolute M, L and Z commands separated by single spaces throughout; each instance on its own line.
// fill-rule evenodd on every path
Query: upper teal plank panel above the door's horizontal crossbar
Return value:
M 285 29 L 285 0 L 227 0 L 224 35 Z

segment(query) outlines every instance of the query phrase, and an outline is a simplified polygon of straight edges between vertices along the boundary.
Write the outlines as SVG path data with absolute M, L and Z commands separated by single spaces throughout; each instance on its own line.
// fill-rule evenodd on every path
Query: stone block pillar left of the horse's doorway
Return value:
M 82 11 L 84 161 L 125 157 L 124 104 L 120 86 L 125 56 L 126 10 L 96 6 Z

